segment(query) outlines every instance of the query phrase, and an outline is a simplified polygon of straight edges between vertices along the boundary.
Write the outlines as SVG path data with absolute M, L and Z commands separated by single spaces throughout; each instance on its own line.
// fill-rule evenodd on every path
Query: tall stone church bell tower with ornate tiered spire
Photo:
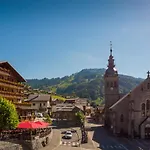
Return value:
M 115 68 L 110 42 L 110 55 L 107 70 L 104 74 L 105 125 L 109 126 L 109 108 L 119 100 L 119 77 Z

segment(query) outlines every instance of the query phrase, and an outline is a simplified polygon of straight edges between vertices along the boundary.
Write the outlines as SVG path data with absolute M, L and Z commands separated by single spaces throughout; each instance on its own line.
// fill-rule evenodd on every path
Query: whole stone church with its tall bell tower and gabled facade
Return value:
M 141 84 L 121 95 L 112 45 L 107 67 L 104 74 L 105 127 L 116 135 L 150 138 L 150 72 Z

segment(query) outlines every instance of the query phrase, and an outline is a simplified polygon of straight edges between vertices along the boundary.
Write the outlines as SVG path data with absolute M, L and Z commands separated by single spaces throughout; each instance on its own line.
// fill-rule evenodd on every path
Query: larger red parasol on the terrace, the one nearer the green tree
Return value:
M 32 121 L 23 121 L 20 122 L 17 128 L 22 128 L 22 129 L 36 129 L 36 128 L 43 128 L 43 125 L 37 124 Z

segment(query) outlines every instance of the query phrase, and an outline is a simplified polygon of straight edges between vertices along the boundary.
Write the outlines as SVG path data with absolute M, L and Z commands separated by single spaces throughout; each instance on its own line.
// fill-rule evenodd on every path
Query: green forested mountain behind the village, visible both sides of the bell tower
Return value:
M 105 69 L 83 69 L 78 73 L 62 78 L 28 79 L 32 88 L 52 91 L 60 95 L 74 95 L 91 100 L 103 99 Z M 119 75 L 120 92 L 125 94 L 141 83 L 143 79 Z

